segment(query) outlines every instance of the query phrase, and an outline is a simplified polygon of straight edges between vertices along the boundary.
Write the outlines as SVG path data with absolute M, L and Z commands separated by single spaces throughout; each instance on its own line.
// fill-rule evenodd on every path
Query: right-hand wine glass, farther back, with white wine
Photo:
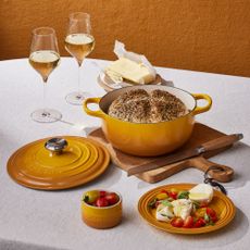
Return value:
M 83 100 L 91 96 L 88 92 L 80 91 L 80 66 L 84 59 L 95 47 L 89 14 L 76 12 L 70 15 L 64 45 L 67 52 L 76 59 L 78 64 L 78 90 L 68 93 L 65 99 L 70 104 L 82 105 Z

